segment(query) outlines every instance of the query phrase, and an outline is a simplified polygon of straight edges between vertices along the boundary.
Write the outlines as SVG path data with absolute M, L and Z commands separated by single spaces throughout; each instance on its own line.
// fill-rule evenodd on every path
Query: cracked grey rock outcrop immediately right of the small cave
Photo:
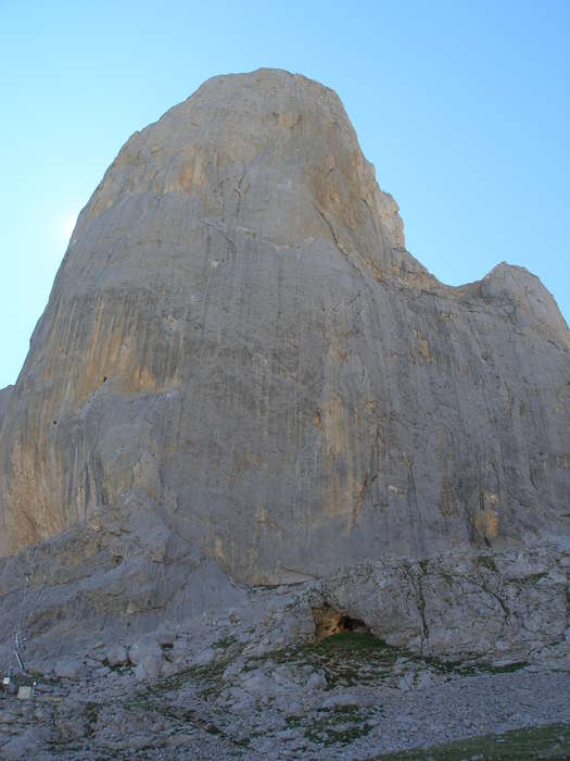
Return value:
M 539 646 L 563 639 L 560 556 L 566 551 L 552 546 L 449 552 L 419 562 L 387 558 L 324 579 L 312 602 L 363 621 L 380 639 L 416 653 L 524 661 Z M 517 576 L 517 569 L 529 566 L 542 571 Z M 558 571 L 550 575 L 548 567 Z M 568 569 L 563 573 L 566 578 Z

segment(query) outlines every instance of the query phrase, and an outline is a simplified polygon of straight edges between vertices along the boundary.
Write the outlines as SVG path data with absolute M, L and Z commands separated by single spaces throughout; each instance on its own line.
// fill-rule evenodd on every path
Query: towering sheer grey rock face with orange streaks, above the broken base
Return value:
M 0 554 L 139 509 L 249 583 L 530 541 L 569 416 L 536 277 L 440 284 L 334 92 L 216 77 L 121 150 L 0 391 Z

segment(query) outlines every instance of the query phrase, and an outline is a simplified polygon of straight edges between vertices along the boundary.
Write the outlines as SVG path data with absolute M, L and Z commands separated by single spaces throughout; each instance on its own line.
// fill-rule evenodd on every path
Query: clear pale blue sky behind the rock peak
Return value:
M 570 319 L 570 0 L 0 0 L 0 387 L 123 142 L 259 66 L 337 90 L 440 279 L 506 260 Z

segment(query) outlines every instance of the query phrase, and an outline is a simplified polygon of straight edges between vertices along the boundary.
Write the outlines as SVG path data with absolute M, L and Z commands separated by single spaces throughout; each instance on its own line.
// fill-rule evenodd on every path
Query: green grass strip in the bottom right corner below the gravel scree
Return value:
M 530 761 L 570 758 L 570 725 L 550 724 L 504 735 L 474 737 L 434 748 L 373 757 L 375 761 Z M 372 761 L 371 759 L 369 761 Z

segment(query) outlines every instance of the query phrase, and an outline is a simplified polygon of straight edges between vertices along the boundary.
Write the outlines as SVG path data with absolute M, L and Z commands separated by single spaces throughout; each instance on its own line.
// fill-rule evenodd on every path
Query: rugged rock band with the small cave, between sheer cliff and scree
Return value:
M 18 617 L 26 659 L 65 660 L 101 643 L 107 663 L 151 658 L 160 670 L 161 648 L 174 648 L 180 627 L 217 616 L 252 657 L 364 633 L 418 657 L 570 666 L 569 609 L 570 545 L 561 539 L 420 561 L 387 557 L 301 584 L 251 588 L 205 556 L 151 558 L 127 533 L 80 527 L 0 560 L 0 665 L 15 663 Z M 195 647 L 204 662 L 214 656 L 201 636 Z

